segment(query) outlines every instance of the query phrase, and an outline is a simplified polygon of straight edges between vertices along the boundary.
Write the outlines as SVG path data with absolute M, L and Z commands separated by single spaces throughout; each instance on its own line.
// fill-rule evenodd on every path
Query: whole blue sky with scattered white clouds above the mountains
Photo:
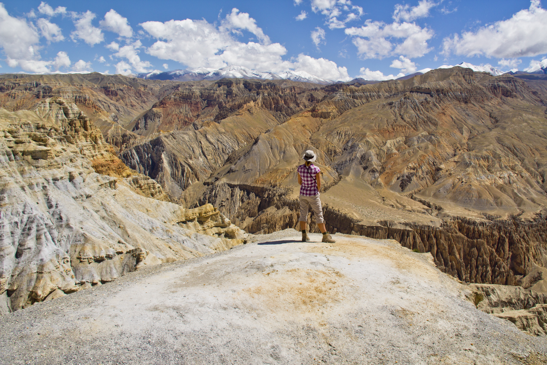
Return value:
M 532 1 L 10 1 L 0 72 L 245 66 L 382 79 L 469 62 L 526 69 L 547 55 Z

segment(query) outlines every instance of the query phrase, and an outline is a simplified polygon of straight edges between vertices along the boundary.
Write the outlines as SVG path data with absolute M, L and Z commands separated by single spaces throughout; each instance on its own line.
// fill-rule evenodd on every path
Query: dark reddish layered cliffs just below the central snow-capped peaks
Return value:
M 289 80 L 223 79 L 216 82 L 185 82 L 172 86 L 170 94 L 155 103 L 128 126 L 139 135 L 159 131 L 197 129 L 253 108 L 279 121 L 312 106 L 325 92 L 317 85 Z

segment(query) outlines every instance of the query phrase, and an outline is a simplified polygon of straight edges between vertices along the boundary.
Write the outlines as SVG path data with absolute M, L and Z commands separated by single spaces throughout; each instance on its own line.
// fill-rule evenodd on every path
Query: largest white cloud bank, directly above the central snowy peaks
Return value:
M 141 24 L 143 30 L 156 38 L 156 42 L 146 52 L 161 60 L 181 62 L 189 67 L 222 68 L 229 65 L 244 66 L 258 71 L 283 72 L 289 69 L 305 71 L 315 76 L 349 80 L 347 69 L 335 62 L 325 59 L 299 55 L 293 60 L 283 60 L 287 49 L 279 43 L 270 43 L 269 37 L 260 35 L 254 19 L 247 16 L 234 20 L 232 14 L 239 15 L 238 10 L 226 16 L 217 28 L 206 20 L 169 20 L 166 22 L 147 21 Z M 228 26 L 227 22 L 230 22 Z M 238 22 L 239 21 L 239 22 Z M 256 26 L 256 28 L 254 28 Z M 241 27 L 241 28 L 237 28 Z M 252 31 L 263 43 L 238 42 L 232 37 L 234 30 Z M 260 30 L 261 31 L 261 30 Z M 125 67 L 121 68 L 121 66 Z M 129 64 L 120 65 L 120 70 L 127 71 Z M 118 68 L 117 68 L 118 70 Z M 118 72 L 118 71 L 117 71 Z

